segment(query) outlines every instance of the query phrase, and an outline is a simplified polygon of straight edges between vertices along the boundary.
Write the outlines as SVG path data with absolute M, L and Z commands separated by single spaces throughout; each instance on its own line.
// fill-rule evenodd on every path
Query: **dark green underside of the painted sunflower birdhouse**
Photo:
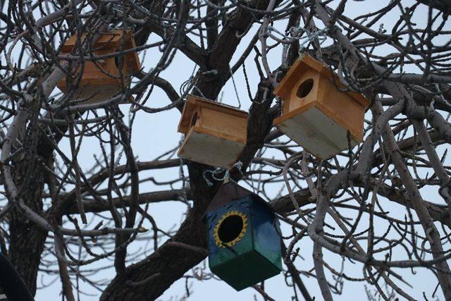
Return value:
M 233 252 L 230 250 L 230 252 Z M 278 266 L 256 250 L 240 254 L 228 262 L 210 266 L 211 271 L 235 290 L 243 290 L 280 274 Z

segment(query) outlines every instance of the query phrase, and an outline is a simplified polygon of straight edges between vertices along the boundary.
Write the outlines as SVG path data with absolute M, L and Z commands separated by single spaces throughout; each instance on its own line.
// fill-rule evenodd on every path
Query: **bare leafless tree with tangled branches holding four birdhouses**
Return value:
M 265 197 L 280 216 L 283 275 L 293 297 L 312 300 L 304 281 L 313 277 L 321 291 L 316 298 L 324 300 L 350 281 L 366 283 L 371 300 L 375 292 L 384 300 L 441 292 L 449 300 L 450 4 L 392 0 L 358 13 L 354 5 L 1 1 L 0 250 L 32 293 L 38 274 L 51 273 L 67 300 L 82 299 L 79 281 L 99 288 L 101 300 L 155 300 L 178 279 L 192 281 L 190 269 L 207 255 L 202 216 L 225 171 L 178 159 L 176 142 L 154 160 L 137 159 L 134 124 L 181 112 L 188 93 L 220 101 L 232 83 L 237 100 L 248 94 L 251 105 L 242 165 L 230 177 Z M 416 23 L 419 15 L 424 24 Z M 142 57 L 148 51 L 152 61 L 144 60 L 132 83 L 122 80 L 121 92 L 102 102 L 74 101 L 76 78 L 68 93 L 58 92 L 70 70 L 106 58 L 89 45 L 109 28 L 132 30 L 131 51 Z M 61 52 L 63 42 L 82 34 L 87 38 L 71 54 Z M 273 128 L 281 106 L 273 89 L 299 53 L 371 100 L 364 142 L 332 159 L 316 159 Z M 112 56 L 121 61 L 124 54 Z M 176 86 L 163 72 L 178 56 L 195 68 Z M 246 89 L 238 92 L 236 84 Z M 150 100 L 160 90 L 168 102 L 157 108 Z M 94 158 L 80 155 L 86 141 L 96 145 Z M 150 184 L 155 189 L 147 191 Z M 186 214 L 167 231 L 149 206 L 173 201 L 183 202 Z M 142 241 L 152 244 L 138 248 Z M 302 264 L 305 245 L 312 246 L 313 266 Z M 350 264 L 362 273 L 350 276 Z M 115 274 L 106 283 L 95 279 L 106 267 Z M 423 269 L 438 287 L 405 289 L 409 271 Z M 263 284 L 254 289 L 272 300 Z

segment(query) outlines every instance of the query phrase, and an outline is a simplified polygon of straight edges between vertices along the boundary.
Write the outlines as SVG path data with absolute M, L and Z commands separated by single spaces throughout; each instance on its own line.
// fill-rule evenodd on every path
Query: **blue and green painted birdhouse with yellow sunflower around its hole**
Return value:
M 235 290 L 282 270 L 278 219 L 258 195 L 230 180 L 206 209 L 210 270 Z

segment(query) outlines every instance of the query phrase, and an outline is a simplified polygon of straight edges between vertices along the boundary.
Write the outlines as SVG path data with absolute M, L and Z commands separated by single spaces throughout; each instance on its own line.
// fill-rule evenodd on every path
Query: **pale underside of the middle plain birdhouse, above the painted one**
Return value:
M 233 136 L 214 130 L 192 127 L 185 137 L 178 156 L 202 164 L 232 168 L 245 144 Z

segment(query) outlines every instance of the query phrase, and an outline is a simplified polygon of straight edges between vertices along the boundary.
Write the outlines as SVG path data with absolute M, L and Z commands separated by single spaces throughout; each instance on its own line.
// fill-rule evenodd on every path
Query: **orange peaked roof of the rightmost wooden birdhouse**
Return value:
M 328 78 L 329 80 L 334 80 L 337 85 L 343 88 L 345 87 L 344 85 L 342 85 L 342 82 L 340 81 L 340 78 L 338 78 L 338 75 L 331 72 L 328 66 L 320 63 L 319 61 L 316 61 L 316 59 L 312 58 L 311 56 L 304 54 L 301 59 L 298 59 L 297 61 L 295 61 L 295 63 L 292 64 L 290 70 L 288 70 L 288 73 L 279 82 L 279 85 L 276 87 L 276 89 L 274 89 L 273 93 L 279 97 L 287 97 L 287 92 L 293 89 L 293 87 L 297 83 L 299 76 L 306 72 L 308 69 L 316 70 L 316 72 L 320 73 L 322 76 Z M 352 97 L 352 99 L 354 99 L 365 108 L 370 104 L 369 100 L 360 93 L 347 92 L 346 94 L 348 94 L 350 97 Z

